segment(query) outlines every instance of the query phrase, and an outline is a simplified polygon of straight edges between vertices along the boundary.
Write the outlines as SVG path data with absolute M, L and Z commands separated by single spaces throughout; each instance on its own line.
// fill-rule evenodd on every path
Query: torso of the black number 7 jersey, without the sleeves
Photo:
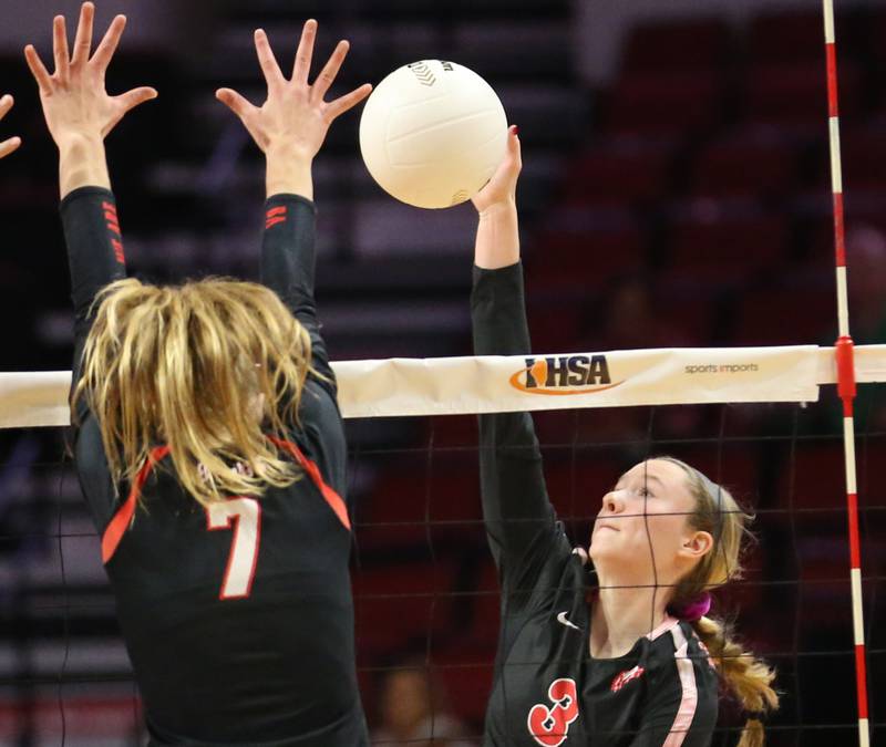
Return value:
M 306 396 L 322 407 L 311 388 Z M 81 433 L 81 475 L 100 444 L 91 432 L 87 423 Z M 329 438 L 327 427 L 327 446 Z M 288 488 L 208 509 L 182 490 L 163 450 L 143 471 L 143 508 L 105 569 L 157 745 L 362 744 L 353 732 L 362 717 L 354 716 L 349 526 L 324 496 L 338 494 L 320 475 L 318 445 L 290 442 L 284 453 L 288 445 L 318 481 L 308 467 Z M 83 483 L 87 489 L 90 478 Z M 105 549 L 127 504 L 103 532 Z M 292 738 L 324 728 L 322 737 Z

